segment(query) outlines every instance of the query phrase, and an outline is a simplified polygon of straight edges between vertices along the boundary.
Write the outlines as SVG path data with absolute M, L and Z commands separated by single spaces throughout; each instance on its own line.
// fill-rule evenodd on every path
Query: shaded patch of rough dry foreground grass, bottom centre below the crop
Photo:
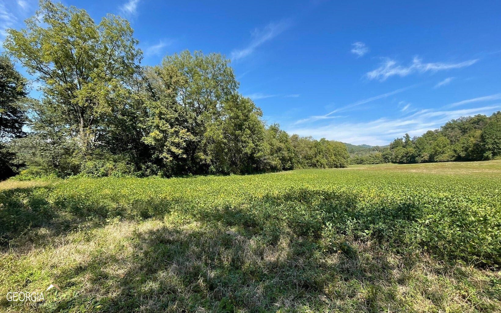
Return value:
M 131 234 L 132 256 L 100 255 L 62 276 L 94 285 L 47 307 L 113 312 L 268 312 L 404 309 L 395 301 L 396 264 L 381 253 L 322 253 L 315 240 L 286 229 L 274 244 L 265 233 L 225 227 L 169 227 Z M 356 251 L 357 248 L 353 247 Z M 103 263 L 103 260 L 107 260 Z M 94 266 L 92 264 L 100 264 Z M 411 265 L 409 265 L 411 266 Z M 405 283 L 406 278 L 402 279 Z M 93 303 L 93 304 L 90 304 Z

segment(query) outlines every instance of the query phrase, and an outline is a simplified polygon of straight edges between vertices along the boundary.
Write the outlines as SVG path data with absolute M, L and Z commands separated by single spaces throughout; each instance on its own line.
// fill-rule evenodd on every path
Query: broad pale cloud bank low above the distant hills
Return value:
M 427 109 L 396 119 L 379 118 L 367 122 L 332 122 L 321 127 L 304 128 L 294 128 L 293 125 L 286 130 L 290 134 L 313 136 L 317 139 L 324 137 L 352 144 L 386 145 L 405 133 L 409 133 L 410 136 L 419 136 L 428 130 L 439 128 L 451 119 L 475 114 L 490 115 L 499 108 L 501 108 L 501 104 L 450 111 Z

